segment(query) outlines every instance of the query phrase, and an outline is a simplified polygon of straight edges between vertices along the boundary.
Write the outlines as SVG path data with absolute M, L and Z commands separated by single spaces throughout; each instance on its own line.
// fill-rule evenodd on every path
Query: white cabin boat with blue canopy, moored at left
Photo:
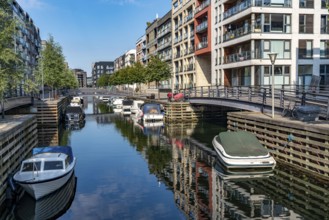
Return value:
M 16 183 L 38 200 L 62 187 L 72 176 L 76 158 L 69 146 L 34 148 L 14 175 Z

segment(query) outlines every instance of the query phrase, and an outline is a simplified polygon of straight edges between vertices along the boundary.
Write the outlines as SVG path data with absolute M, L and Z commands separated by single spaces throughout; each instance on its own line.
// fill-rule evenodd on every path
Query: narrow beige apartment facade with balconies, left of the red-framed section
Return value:
M 194 12 L 196 0 L 172 0 L 172 67 L 174 89 L 199 85 L 195 71 Z

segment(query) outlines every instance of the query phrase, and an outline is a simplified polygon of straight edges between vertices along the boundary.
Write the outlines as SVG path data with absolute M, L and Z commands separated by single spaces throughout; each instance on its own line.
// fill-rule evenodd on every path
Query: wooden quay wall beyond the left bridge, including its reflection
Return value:
M 69 105 L 69 98 L 36 102 L 39 146 L 55 146 L 59 141 L 59 126 Z

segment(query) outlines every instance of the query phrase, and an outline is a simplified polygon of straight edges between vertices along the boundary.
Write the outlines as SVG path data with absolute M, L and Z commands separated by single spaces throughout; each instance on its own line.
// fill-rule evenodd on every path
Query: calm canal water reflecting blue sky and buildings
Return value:
M 24 196 L 8 216 L 329 219 L 328 185 L 314 177 L 280 164 L 270 174 L 225 173 L 211 145 L 225 122 L 143 126 L 109 111 L 89 99 L 85 123 L 66 127 L 59 143 L 77 157 L 74 178 L 45 201 Z

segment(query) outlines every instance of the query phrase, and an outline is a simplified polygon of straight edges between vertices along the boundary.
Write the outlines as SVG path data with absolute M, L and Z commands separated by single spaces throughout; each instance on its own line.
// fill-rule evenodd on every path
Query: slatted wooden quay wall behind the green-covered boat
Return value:
M 329 123 L 302 122 L 255 112 L 230 112 L 227 129 L 256 134 L 275 160 L 329 179 Z

